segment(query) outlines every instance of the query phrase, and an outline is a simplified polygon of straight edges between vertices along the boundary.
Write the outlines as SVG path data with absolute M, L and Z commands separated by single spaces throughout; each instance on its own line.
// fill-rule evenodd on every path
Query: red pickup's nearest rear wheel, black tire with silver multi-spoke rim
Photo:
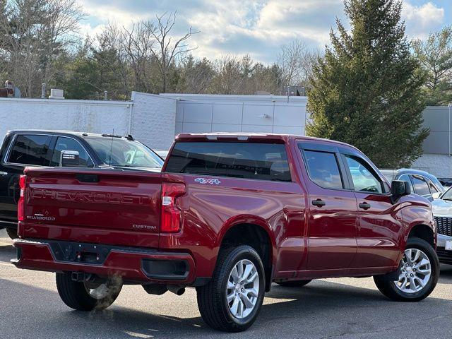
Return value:
M 265 274 L 251 246 L 220 251 L 212 280 L 196 287 L 198 307 L 206 323 L 217 330 L 239 332 L 256 320 L 265 293 Z

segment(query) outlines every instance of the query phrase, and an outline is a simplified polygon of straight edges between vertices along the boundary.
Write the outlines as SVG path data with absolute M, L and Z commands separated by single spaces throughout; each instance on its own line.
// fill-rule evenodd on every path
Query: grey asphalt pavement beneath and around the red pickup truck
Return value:
M 212 331 L 199 316 L 160 316 L 159 309 L 153 309 L 155 297 L 150 296 L 149 311 L 113 305 L 105 311 L 85 313 L 68 309 L 57 292 L 11 280 L 0 279 L 0 295 L 0 319 L 8 319 L 2 326 L 4 338 L 19 334 L 23 338 L 244 338 L 243 333 Z M 323 280 L 301 288 L 275 285 L 264 303 L 246 338 L 382 338 L 381 335 L 396 335 L 404 326 L 413 327 L 412 333 L 409 329 L 404 332 L 406 338 L 416 334 L 421 335 L 418 338 L 426 338 L 427 334 L 441 336 L 437 327 L 432 332 L 434 321 L 443 321 L 441 316 L 449 321 L 452 309 L 451 300 L 430 297 L 420 303 L 391 302 L 377 290 Z M 178 313 L 174 309 L 174 315 Z M 25 314 L 26 318 L 16 322 L 18 318 L 8 314 Z M 412 326 L 417 322 L 424 324 L 426 335 L 420 333 L 419 326 Z M 37 331 L 39 337 L 35 336 Z

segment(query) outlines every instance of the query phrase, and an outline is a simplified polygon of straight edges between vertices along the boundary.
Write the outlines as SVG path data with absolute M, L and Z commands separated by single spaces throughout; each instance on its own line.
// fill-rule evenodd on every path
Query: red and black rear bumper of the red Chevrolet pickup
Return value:
M 160 252 L 123 246 L 15 239 L 18 268 L 51 272 L 118 275 L 130 283 L 191 285 L 195 262 L 188 253 Z

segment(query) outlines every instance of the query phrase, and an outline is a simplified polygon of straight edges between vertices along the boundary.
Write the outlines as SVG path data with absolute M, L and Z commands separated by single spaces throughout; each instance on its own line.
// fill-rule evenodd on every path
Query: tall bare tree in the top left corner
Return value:
M 54 58 L 73 42 L 84 14 L 75 0 L 10 0 L 0 17 L 1 54 L 8 74 L 31 97 L 51 73 Z

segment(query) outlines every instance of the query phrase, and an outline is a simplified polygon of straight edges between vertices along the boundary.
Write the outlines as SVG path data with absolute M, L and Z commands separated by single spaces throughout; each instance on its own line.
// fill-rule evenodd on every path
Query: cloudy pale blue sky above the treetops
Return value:
M 81 34 L 95 36 L 107 23 L 130 27 L 138 20 L 177 11 L 174 37 L 192 27 L 195 57 L 249 54 L 255 61 L 277 61 L 293 39 L 323 50 L 335 18 L 347 24 L 343 0 L 79 0 L 87 14 Z M 408 37 L 424 38 L 452 24 L 452 0 L 403 0 Z

